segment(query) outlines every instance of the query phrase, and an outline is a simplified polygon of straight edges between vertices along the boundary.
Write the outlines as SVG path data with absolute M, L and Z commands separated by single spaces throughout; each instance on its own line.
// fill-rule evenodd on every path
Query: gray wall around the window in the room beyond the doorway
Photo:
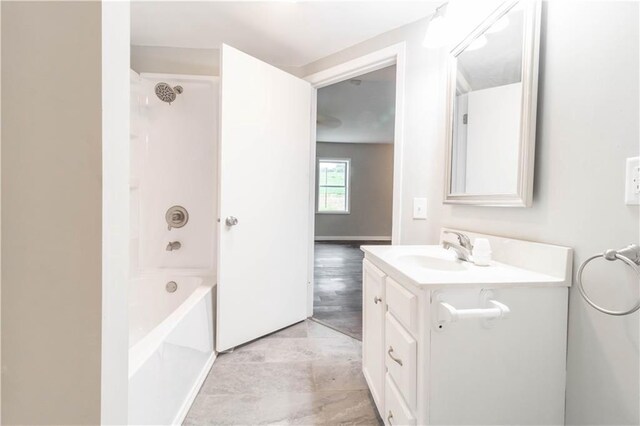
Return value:
M 391 237 L 393 145 L 318 142 L 316 157 L 351 159 L 350 214 L 316 213 L 316 237 Z

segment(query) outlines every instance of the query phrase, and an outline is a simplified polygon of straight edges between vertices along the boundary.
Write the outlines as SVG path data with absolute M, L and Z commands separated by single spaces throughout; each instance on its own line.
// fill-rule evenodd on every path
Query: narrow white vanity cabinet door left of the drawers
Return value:
M 363 333 L 362 372 L 373 400 L 382 412 L 384 407 L 384 280 L 385 274 L 368 260 L 362 264 Z

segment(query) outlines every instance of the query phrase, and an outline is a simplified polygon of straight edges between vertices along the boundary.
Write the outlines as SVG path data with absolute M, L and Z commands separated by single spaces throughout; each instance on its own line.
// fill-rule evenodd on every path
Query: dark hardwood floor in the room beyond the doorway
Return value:
M 313 317 L 362 340 L 362 259 L 360 246 L 385 241 L 316 242 Z

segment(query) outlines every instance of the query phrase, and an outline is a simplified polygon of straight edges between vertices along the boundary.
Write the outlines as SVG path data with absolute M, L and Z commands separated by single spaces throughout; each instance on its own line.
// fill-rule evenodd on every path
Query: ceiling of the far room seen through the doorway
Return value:
M 395 75 L 391 66 L 318 90 L 318 142 L 393 143 Z

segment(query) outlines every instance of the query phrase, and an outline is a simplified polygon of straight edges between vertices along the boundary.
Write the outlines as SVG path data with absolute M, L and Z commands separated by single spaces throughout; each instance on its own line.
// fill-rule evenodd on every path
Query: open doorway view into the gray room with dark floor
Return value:
M 361 245 L 393 229 L 396 65 L 318 89 L 313 318 L 362 340 Z

